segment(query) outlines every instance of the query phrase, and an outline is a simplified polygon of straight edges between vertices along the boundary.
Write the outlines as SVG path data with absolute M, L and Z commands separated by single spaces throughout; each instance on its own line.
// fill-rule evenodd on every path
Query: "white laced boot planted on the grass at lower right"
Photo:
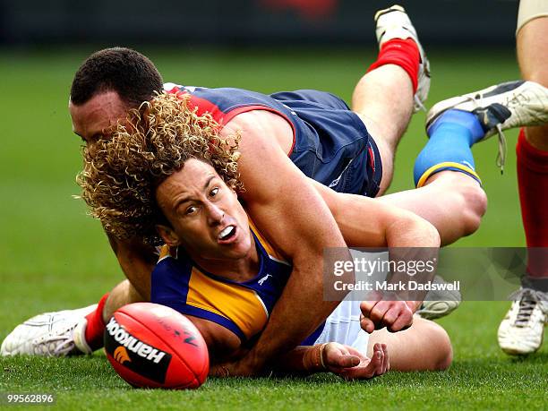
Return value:
M 499 327 L 499 346 L 509 355 L 534 353 L 543 344 L 548 321 L 548 294 L 521 288 Z

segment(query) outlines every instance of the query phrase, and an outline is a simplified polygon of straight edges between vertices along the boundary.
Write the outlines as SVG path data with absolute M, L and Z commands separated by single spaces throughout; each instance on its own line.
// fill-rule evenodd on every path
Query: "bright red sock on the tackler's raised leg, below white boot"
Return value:
M 377 61 L 367 69 L 367 73 L 384 64 L 396 64 L 404 69 L 413 83 L 413 92 L 418 85 L 418 69 L 421 55 L 415 40 L 391 39 L 384 43 L 377 57 Z

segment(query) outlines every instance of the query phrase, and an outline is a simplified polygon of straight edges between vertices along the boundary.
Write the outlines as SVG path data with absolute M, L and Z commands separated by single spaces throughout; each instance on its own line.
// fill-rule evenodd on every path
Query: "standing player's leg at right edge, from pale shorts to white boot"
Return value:
M 542 14 L 544 17 L 538 17 Z M 516 44 L 522 76 L 525 80 L 548 86 L 548 4 L 523 0 L 519 4 L 518 16 L 521 27 L 518 28 Z M 520 134 L 518 140 L 517 168 L 527 246 L 546 247 L 548 125 L 525 127 L 524 133 L 525 136 Z M 497 333 L 499 346 L 509 355 L 534 353 L 543 343 L 548 304 L 543 304 L 543 298 L 538 298 L 536 293 L 548 291 L 543 287 L 548 278 L 548 260 L 545 253 L 537 253 L 539 250 L 529 249 L 527 271 L 522 279 L 519 298 L 512 303 Z

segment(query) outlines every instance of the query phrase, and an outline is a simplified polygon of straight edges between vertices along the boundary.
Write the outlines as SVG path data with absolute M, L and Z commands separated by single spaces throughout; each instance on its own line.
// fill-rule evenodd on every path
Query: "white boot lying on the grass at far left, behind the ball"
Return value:
M 24 321 L 4 339 L 0 355 L 64 356 L 90 354 L 84 339 L 86 315 L 97 304 L 77 310 L 43 313 Z

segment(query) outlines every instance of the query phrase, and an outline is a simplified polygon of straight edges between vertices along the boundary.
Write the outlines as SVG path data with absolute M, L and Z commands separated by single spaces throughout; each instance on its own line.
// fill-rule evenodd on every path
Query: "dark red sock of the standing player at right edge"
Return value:
M 521 217 L 527 239 L 527 272 L 548 277 L 548 151 L 538 150 L 521 129 L 516 147 Z

